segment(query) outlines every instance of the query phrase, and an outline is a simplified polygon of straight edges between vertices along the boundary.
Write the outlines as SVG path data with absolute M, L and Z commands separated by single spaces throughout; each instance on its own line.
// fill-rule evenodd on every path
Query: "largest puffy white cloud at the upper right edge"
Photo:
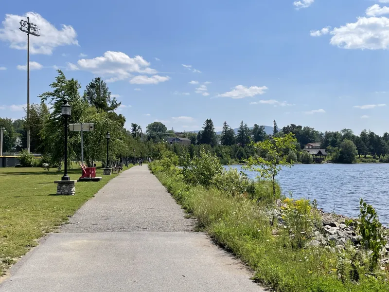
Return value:
M 389 18 L 360 17 L 335 28 L 331 35 L 330 43 L 342 49 L 385 50 L 389 48 Z

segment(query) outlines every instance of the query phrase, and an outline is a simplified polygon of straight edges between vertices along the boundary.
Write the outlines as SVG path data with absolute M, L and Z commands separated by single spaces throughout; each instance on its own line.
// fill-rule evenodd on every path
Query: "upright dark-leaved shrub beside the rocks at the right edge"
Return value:
M 381 248 L 385 246 L 386 241 L 383 235 L 382 224 L 378 219 L 374 207 L 361 199 L 360 214 L 356 220 L 356 227 L 366 247 L 371 250 L 371 269 L 373 269 L 379 259 Z

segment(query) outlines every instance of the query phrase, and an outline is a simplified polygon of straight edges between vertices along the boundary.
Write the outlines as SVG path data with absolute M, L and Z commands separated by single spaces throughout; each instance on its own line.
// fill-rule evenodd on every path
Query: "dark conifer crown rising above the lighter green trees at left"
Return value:
M 111 98 L 111 92 L 106 83 L 100 77 L 94 78 L 84 91 L 84 99 L 96 109 L 103 111 L 113 111 L 122 104 L 116 101 L 116 97 Z

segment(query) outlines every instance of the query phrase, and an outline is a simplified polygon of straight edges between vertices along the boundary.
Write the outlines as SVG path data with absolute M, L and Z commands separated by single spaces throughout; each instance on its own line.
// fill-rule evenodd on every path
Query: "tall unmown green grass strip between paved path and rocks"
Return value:
M 153 169 L 153 165 L 150 167 Z M 338 279 L 338 255 L 325 248 L 291 246 L 287 232 L 273 236 L 263 206 L 242 196 L 202 186 L 191 186 L 178 176 L 157 171 L 159 181 L 192 216 L 199 228 L 218 244 L 242 259 L 255 271 L 254 280 L 278 292 L 388 292 L 388 274 L 367 276 L 361 267 L 360 281 Z M 348 276 L 348 273 L 345 273 Z

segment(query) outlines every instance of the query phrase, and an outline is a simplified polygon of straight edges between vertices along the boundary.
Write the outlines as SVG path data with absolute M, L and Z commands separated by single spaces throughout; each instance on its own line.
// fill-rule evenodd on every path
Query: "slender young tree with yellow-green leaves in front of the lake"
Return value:
M 270 179 L 273 182 L 273 196 L 276 195 L 276 175 L 281 171 L 282 166 L 291 167 L 292 162 L 287 161 L 283 155 L 285 148 L 295 150 L 296 138 L 293 134 L 286 134 L 284 137 L 273 138 L 273 141 L 254 143 L 254 148 L 261 153 L 258 157 L 249 157 L 246 169 L 259 172 L 259 178 Z

